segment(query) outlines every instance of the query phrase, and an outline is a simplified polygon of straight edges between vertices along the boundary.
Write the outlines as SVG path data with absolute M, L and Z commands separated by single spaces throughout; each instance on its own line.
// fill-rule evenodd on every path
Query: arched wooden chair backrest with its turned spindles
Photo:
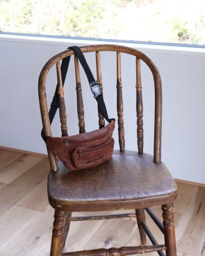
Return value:
M 162 120 L 162 90 L 161 90 L 161 77 L 160 74 L 154 65 L 154 63 L 150 60 L 148 56 L 143 54 L 142 52 L 132 49 L 129 47 L 123 47 L 120 45 L 90 45 L 90 46 L 83 46 L 81 47 L 81 51 L 85 54 L 85 58 L 87 58 L 88 54 L 92 54 L 92 58 L 95 57 L 95 63 L 96 63 L 96 73 L 97 73 L 97 81 L 101 87 L 101 90 L 103 90 L 103 81 L 102 77 L 103 72 L 101 70 L 105 70 L 106 67 L 110 67 L 110 58 L 115 58 L 116 63 L 116 94 L 117 94 L 117 124 L 118 124 L 118 137 L 119 137 L 119 144 L 120 144 L 120 151 L 124 151 L 124 105 L 123 105 L 123 90 L 124 88 L 124 80 L 123 80 L 123 74 L 122 74 L 122 56 L 125 54 L 132 56 L 134 59 L 134 70 L 136 72 L 133 84 L 129 85 L 129 88 L 126 88 L 126 90 L 131 90 L 131 87 L 134 88 L 133 92 L 136 94 L 136 123 L 137 123 L 137 141 L 138 141 L 138 154 L 143 154 L 143 145 L 144 145 L 144 131 L 143 131 L 143 102 L 142 102 L 142 83 L 141 83 L 141 63 L 145 63 L 147 67 L 149 67 L 149 70 L 151 70 L 151 74 L 154 81 L 154 162 L 159 163 L 161 162 L 161 120 Z M 101 58 L 103 56 L 104 52 L 113 52 L 114 57 L 106 55 L 106 58 Z M 51 70 L 51 67 L 54 67 L 56 65 L 56 74 L 58 82 L 58 88 L 59 88 L 59 95 L 61 98 L 63 98 L 64 92 L 63 92 L 63 82 L 62 82 L 62 76 L 60 71 L 60 62 L 63 58 L 66 58 L 68 56 L 74 55 L 74 51 L 71 49 L 67 49 L 66 51 L 63 51 L 59 54 L 56 54 L 56 56 L 52 57 L 47 61 L 47 63 L 42 68 L 42 71 L 40 73 L 39 77 L 39 98 L 40 98 L 40 110 L 42 114 L 42 124 L 45 136 L 52 136 L 51 132 L 51 124 L 49 120 L 49 107 L 47 102 L 47 77 L 48 73 Z M 124 58 L 124 57 L 123 57 Z M 104 63 L 106 61 L 107 63 Z M 131 62 L 125 63 L 126 70 L 131 69 Z M 143 64 L 144 65 L 144 64 Z M 79 61 L 74 56 L 74 72 L 76 77 L 76 99 L 77 99 L 77 115 L 79 119 L 79 132 L 85 132 L 85 116 L 84 116 L 84 104 L 83 104 L 83 93 L 82 93 L 82 86 L 81 81 L 85 79 L 83 77 L 83 74 L 81 74 L 81 68 L 79 67 Z M 93 67 L 93 61 L 92 61 L 92 67 Z M 95 70 L 91 67 L 91 70 L 93 74 L 95 74 Z M 70 70 L 68 71 L 70 72 Z M 110 70 L 107 70 L 106 72 L 111 72 Z M 128 73 L 126 71 L 126 73 Z M 129 74 L 126 74 L 126 76 Z M 67 75 L 69 76 L 69 74 Z M 54 81 L 54 86 L 56 82 Z M 109 86 L 111 86 L 109 84 Z M 89 87 L 89 86 L 88 86 Z M 136 88 L 135 88 L 136 87 Z M 54 90 L 54 89 L 53 89 Z M 67 90 L 67 89 L 66 89 Z M 104 93 L 105 90 L 107 90 L 106 86 L 104 85 Z M 72 96 L 73 97 L 73 96 Z M 94 100 L 94 99 L 93 99 Z M 63 99 L 64 101 L 64 99 Z M 124 102 L 129 101 L 129 98 L 124 97 Z M 105 99 L 106 102 L 106 99 Z M 66 117 L 66 111 L 65 107 L 63 106 L 61 109 L 63 109 L 63 112 L 60 111 L 60 120 L 61 120 L 61 130 L 62 130 L 62 136 L 67 135 L 67 117 Z M 99 111 L 100 112 L 100 111 Z M 108 110 L 108 113 L 110 111 Z M 110 114 L 111 115 L 111 114 Z M 104 118 L 99 113 L 99 127 L 104 126 Z M 113 116 L 110 116 L 110 118 L 115 118 Z M 49 161 L 51 164 L 51 170 L 57 170 L 56 166 L 56 156 L 52 152 L 48 152 L 49 154 Z

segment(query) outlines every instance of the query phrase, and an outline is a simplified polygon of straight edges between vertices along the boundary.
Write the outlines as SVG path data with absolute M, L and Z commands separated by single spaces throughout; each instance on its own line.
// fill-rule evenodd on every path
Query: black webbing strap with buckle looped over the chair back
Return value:
M 107 113 L 107 110 L 106 110 L 106 104 L 104 102 L 104 98 L 103 98 L 103 95 L 101 93 L 99 83 L 93 77 L 92 72 L 90 70 L 90 67 L 88 66 L 88 63 L 85 60 L 85 56 L 83 55 L 83 52 L 81 51 L 81 49 L 77 46 L 68 47 L 67 49 L 72 49 L 74 51 L 74 53 L 76 54 L 76 56 L 79 58 L 79 61 L 82 65 L 82 67 L 83 67 L 83 70 L 85 71 L 85 74 L 88 78 L 88 82 L 89 82 L 89 85 L 90 85 L 90 90 L 92 91 L 92 94 L 94 95 L 95 99 L 97 100 L 97 104 L 99 106 L 101 114 L 104 116 L 104 118 L 108 122 L 111 122 L 111 120 L 115 120 L 114 118 L 108 118 L 108 113 Z M 63 58 L 63 61 L 61 63 L 61 67 L 60 67 L 61 68 L 61 74 L 62 74 L 63 86 L 64 86 L 64 83 L 65 83 L 65 78 L 66 78 L 67 69 L 68 69 L 68 66 L 69 66 L 70 57 L 71 56 Z M 51 108 L 49 110 L 50 123 L 54 120 L 54 116 L 56 114 L 56 111 L 57 111 L 58 107 L 59 107 L 59 102 L 58 102 L 58 85 L 57 85 L 53 100 L 51 102 Z M 42 136 L 43 140 L 46 141 L 46 136 L 44 134 L 44 129 L 42 129 L 42 131 L 41 131 L 41 136 Z

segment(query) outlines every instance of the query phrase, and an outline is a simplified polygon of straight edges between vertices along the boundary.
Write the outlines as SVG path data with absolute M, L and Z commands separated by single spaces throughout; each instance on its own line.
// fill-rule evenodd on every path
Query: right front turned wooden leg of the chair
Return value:
M 166 256 L 177 256 L 173 203 L 162 206 Z

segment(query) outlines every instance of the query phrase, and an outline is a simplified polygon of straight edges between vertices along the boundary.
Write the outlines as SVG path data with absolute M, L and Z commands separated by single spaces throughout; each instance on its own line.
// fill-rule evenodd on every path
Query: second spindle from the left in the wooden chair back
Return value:
M 79 133 L 85 132 L 85 119 L 84 119 L 84 106 L 83 106 L 83 96 L 82 96 L 82 86 L 81 86 L 81 76 L 79 70 L 79 60 L 74 56 L 74 65 L 76 71 L 76 97 L 77 97 L 77 111 L 79 118 Z

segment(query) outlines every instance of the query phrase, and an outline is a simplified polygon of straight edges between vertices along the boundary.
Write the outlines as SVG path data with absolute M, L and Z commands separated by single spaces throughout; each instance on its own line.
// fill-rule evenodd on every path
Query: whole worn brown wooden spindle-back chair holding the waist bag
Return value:
M 111 90 L 112 86 L 116 86 L 116 89 L 112 89 L 112 92 L 116 90 L 115 95 L 112 95 L 113 102 L 117 99 L 117 106 L 108 108 L 108 114 L 110 118 L 116 118 L 116 123 L 118 123 L 118 136 L 120 149 L 117 150 L 117 140 L 115 140 L 115 148 L 113 152 L 113 157 L 110 161 L 106 161 L 95 168 L 88 168 L 85 170 L 69 171 L 63 163 L 56 159 L 53 152 L 49 151 L 49 162 L 51 170 L 48 177 L 48 196 L 49 203 L 55 209 L 54 216 L 54 229 L 51 239 L 51 254 L 52 256 L 59 255 L 133 255 L 138 253 L 150 253 L 158 252 L 159 255 L 176 256 L 176 243 L 174 234 L 174 208 L 173 202 L 177 198 L 177 186 L 174 179 L 170 175 L 169 171 L 165 165 L 161 162 L 161 119 L 162 119 L 162 92 L 161 92 L 161 77 L 154 65 L 154 63 L 142 52 L 131 49 L 129 47 L 122 47 L 118 45 L 92 45 L 81 47 L 81 50 L 85 54 L 85 58 L 88 58 L 88 63 L 91 58 L 96 59 L 96 72 L 97 81 L 102 88 L 102 78 L 106 75 L 110 75 L 110 63 L 111 59 L 114 58 L 114 63 L 116 67 L 115 84 L 104 84 L 104 99 L 106 101 L 106 93 Z M 92 56 L 89 57 L 89 54 Z M 106 54 L 106 58 L 104 58 Z M 108 55 L 109 54 L 109 55 Z M 52 57 L 42 68 L 39 78 L 39 97 L 40 97 L 40 110 L 42 114 L 42 124 L 44 127 L 44 132 L 46 136 L 52 136 L 51 125 L 49 122 L 49 111 L 47 104 L 46 88 L 47 75 L 51 67 L 57 66 L 57 76 L 61 77 L 59 65 L 60 61 L 67 56 L 74 55 L 74 51 L 67 49 L 66 51 L 57 54 Z M 126 55 L 129 57 L 126 59 Z M 123 72 L 121 60 L 127 60 L 127 63 L 123 67 L 129 67 L 129 70 L 135 70 L 136 74 L 133 77 L 132 84 L 126 83 L 123 80 Z M 107 61 L 107 63 L 104 63 Z M 154 109 L 154 154 L 145 154 L 143 152 L 144 143 L 144 132 L 143 132 L 143 104 L 142 104 L 142 84 L 141 84 L 141 70 L 140 64 L 143 63 L 151 71 L 150 74 L 153 80 L 154 88 L 154 99 L 155 103 Z M 78 113 L 76 116 L 79 118 L 79 131 L 85 131 L 85 119 L 84 118 L 84 108 L 83 102 L 83 91 L 87 88 L 87 84 L 81 86 L 83 79 L 83 74 L 81 72 L 81 67 L 79 71 L 79 61 L 74 58 L 74 66 L 70 67 L 68 70 L 67 81 L 65 82 L 65 98 L 69 93 L 67 90 L 73 87 L 71 82 L 72 76 L 71 71 L 76 73 L 76 98 L 79 100 L 78 107 L 76 108 Z M 133 67 L 132 67 L 133 66 Z M 54 68 L 53 67 L 53 68 Z M 95 69 L 93 70 L 93 59 L 92 65 L 90 65 L 92 72 L 95 74 Z M 102 68 L 101 68 L 102 67 Z M 105 74 L 101 70 L 108 70 Z M 147 70 L 147 72 L 149 72 Z M 53 72 L 54 76 L 54 72 Z M 130 76 L 130 74 L 125 74 L 125 77 Z M 148 74 L 147 74 L 148 76 Z M 82 78 L 81 78 L 82 77 Z M 122 77 L 122 79 L 121 79 Z M 57 79 L 56 79 L 57 81 Z M 49 83 L 53 83 L 56 86 L 56 82 L 53 79 L 49 79 Z M 74 82 L 75 83 L 75 82 Z M 88 83 L 86 81 L 86 83 Z M 48 87 L 48 86 L 47 86 Z M 83 88 L 82 88 L 83 87 Z M 89 87 L 89 86 L 88 86 Z M 146 85 L 147 87 L 147 85 Z M 151 88 L 151 86 L 150 86 Z M 86 90 L 86 89 L 85 89 Z M 90 88 L 88 88 L 90 90 Z M 126 127 L 124 125 L 124 106 L 129 103 L 130 98 L 123 95 L 124 90 L 131 90 L 133 95 L 136 95 L 135 108 L 131 111 L 127 111 L 129 118 L 135 118 L 136 134 L 133 134 L 132 141 L 136 138 L 136 148 L 138 145 L 138 150 L 129 151 L 124 149 L 124 137 L 126 137 Z M 52 88 L 52 92 L 54 88 Z M 107 94 L 108 95 L 108 94 Z M 124 102 L 122 102 L 122 96 L 124 96 Z M 50 96 L 49 96 L 50 97 Z M 75 95 L 69 95 L 69 101 L 75 98 Z M 88 97 L 88 95 L 87 95 Z M 88 102 L 94 101 L 91 99 L 92 95 L 89 95 Z M 96 104 L 96 103 L 95 103 Z M 124 105 L 123 105 L 124 104 Z M 85 113 L 89 113 L 90 109 L 85 108 Z M 97 109 L 97 108 L 96 108 Z M 113 116 L 113 109 L 116 109 L 116 116 Z M 97 111 L 96 111 L 97 112 Z M 112 112 L 112 113 L 111 113 Z M 74 113 L 74 111 L 72 111 Z M 134 113 L 134 114 L 133 114 Z M 89 114 L 88 114 L 89 115 Z M 87 116 L 88 116 L 87 115 Z M 104 118 L 99 113 L 99 124 L 104 124 Z M 86 115 L 85 115 L 86 117 Z M 72 123 L 74 122 L 74 117 L 72 114 Z M 69 120 L 69 118 L 67 118 Z M 96 118 L 97 119 L 97 118 Z M 76 118 L 77 120 L 77 118 Z M 63 120 L 64 122 L 65 120 Z M 97 120 L 96 120 L 97 121 Z M 59 122 L 60 123 L 60 122 Z M 70 123 L 70 122 L 69 122 Z M 96 122 L 97 123 L 97 122 Z M 149 127 L 150 128 L 150 127 Z M 56 128 L 55 128 L 56 129 Z M 59 128 L 60 129 L 60 128 Z M 97 129 L 97 127 L 95 127 Z M 115 127 L 115 132 L 117 132 Z M 79 131 L 76 131 L 78 133 Z M 55 130 L 56 132 L 56 130 Z M 163 223 L 158 221 L 154 211 L 150 207 L 161 206 L 163 214 Z M 63 253 L 63 248 L 65 246 L 65 240 L 67 238 L 67 233 L 69 230 L 69 223 L 71 221 L 81 221 L 81 220 L 93 220 L 100 218 L 124 218 L 126 216 L 133 216 L 132 214 L 117 214 L 117 210 L 127 210 L 133 209 L 134 214 L 137 218 L 138 229 L 140 232 L 141 244 L 134 247 L 126 247 L 122 245 L 121 248 L 99 248 L 97 250 L 86 250 L 72 253 Z M 105 216 L 105 211 L 116 210 L 115 216 Z M 153 218 L 154 223 L 158 226 L 164 236 L 164 243 L 158 244 L 153 234 L 147 227 L 145 221 L 145 210 Z M 97 216 L 72 216 L 72 212 L 82 212 L 82 211 L 99 211 Z M 147 237 L 153 245 L 146 245 Z

